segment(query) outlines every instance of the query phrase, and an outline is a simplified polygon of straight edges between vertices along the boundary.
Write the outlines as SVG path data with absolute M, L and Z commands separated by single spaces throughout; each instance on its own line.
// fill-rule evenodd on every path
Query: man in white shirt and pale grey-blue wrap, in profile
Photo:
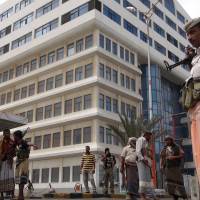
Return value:
M 150 194 L 154 200 L 157 199 L 153 190 L 153 184 L 151 182 L 151 137 L 152 132 L 145 130 L 143 136 L 139 137 L 136 142 L 136 152 L 138 158 L 137 167 L 139 174 L 139 193 L 141 196 L 141 200 L 146 200 L 147 194 Z

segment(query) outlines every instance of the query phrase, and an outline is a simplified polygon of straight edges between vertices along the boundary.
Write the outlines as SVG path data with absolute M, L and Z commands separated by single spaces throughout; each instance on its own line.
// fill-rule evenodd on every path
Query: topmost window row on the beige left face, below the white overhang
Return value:
M 93 35 L 88 35 L 85 38 L 81 38 L 75 42 L 72 42 L 70 44 L 67 45 L 67 56 L 71 56 L 75 53 L 79 53 L 85 49 L 88 49 L 90 47 L 93 46 Z M 2 54 L 6 51 L 8 51 L 9 46 L 5 46 L 2 48 L 2 50 L 0 49 L 0 55 L 1 55 L 1 51 Z M 50 51 L 48 54 L 43 54 L 40 56 L 39 60 L 32 59 L 31 61 L 28 61 L 22 65 L 18 65 L 14 71 L 14 68 L 11 68 L 10 70 L 6 70 L 3 73 L 0 73 L 0 83 L 2 82 L 6 82 L 8 80 L 11 80 L 15 77 L 19 77 L 23 74 L 27 74 L 29 72 L 32 72 L 33 70 L 36 70 L 38 67 L 43 67 L 47 64 L 51 64 L 53 62 L 56 62 L 58 60 L 61 60 L 64 58 L 64 47 L 61 47 L 59 49 L 56 50 L 52 50 Z M 87 72 L 89 71 L 90 67 L 87 66 L 86 67 L 86 76 L 89 76 Z

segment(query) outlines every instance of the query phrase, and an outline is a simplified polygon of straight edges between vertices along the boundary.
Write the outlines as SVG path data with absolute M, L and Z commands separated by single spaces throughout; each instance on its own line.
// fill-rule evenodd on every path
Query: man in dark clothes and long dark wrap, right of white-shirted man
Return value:
M 181 160 L 183 150 L 174 142 L 172 136 L 165 137 L 165 146 L 161 151 L 161 169 L 165 174 L 167 191 L 173 196 L 174 200 L 179 198 L 186 199 L 183 176 L 181 173 Z

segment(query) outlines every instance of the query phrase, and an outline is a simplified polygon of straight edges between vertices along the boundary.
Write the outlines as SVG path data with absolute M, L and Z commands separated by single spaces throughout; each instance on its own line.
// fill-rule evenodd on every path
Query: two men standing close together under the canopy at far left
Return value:
M 28 180 L 28 159 L 30 144 L 23 139 L 24 133 L 17 130 L 11 138 L 10 130 L 3 131 L 3 139 L 0 141 L 0 193 L 4 199 L 4 193 L 14 198 L 15 184 L 19 184 L 18 200 L 24 200 L 24 185 Z M 15 175 L 13 159 L 16 157 Z

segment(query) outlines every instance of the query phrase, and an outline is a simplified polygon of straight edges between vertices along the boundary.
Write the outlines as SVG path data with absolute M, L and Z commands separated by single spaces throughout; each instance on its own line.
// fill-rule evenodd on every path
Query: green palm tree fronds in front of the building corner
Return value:
M 127 115 L 121 115 L 119 113 L 119 118 L 121 121 L 122 128 L 120 124 L 108 125 L 111 130 L 120 138 L 122 145 L 126 145 L 128 138 L 139 137 L 143 131 L 148 130 L 154 133 L 154 138 L 162 135 L 159 130 L 156 130 L 157 124 L 160 122 L 161 118 L 154 116 L 151 120 L 144 119 L 142 116 L 135 118 L 132 116 L 129 118 Z

